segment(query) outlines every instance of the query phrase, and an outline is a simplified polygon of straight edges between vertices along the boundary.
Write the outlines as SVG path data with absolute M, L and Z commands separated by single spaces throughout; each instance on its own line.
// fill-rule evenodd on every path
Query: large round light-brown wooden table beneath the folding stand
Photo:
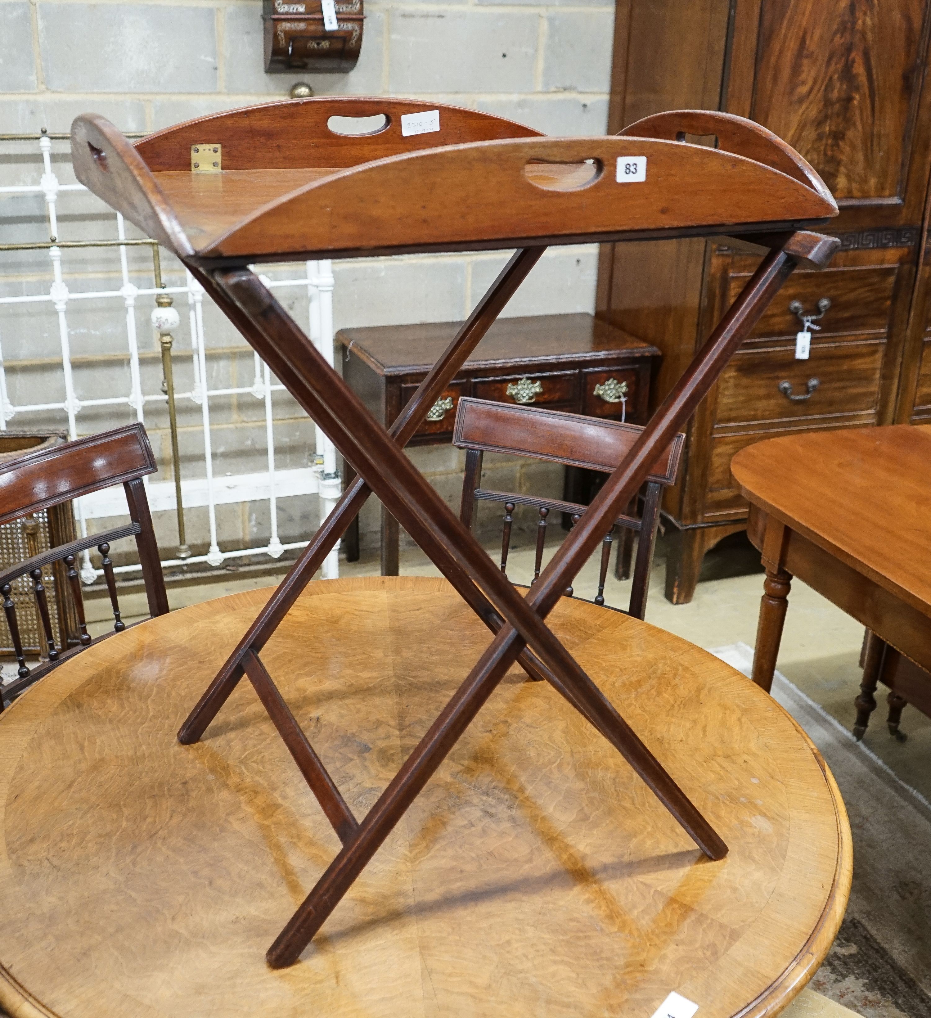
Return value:
M 698 647 L 564 599 L 557 634 L 730 846 L 705 859 L 514 669 L 291 968 L 339 842 L 247 682 L 175 731 L 269 590 L 144 622 L 0 716 L 0 1004 L 15 1018 L 771 1015 L 837 930 L 847 815 L 795 722 Z M 311 583 L 263 654 L 360 817 L 489 641 L 445 581 Z

